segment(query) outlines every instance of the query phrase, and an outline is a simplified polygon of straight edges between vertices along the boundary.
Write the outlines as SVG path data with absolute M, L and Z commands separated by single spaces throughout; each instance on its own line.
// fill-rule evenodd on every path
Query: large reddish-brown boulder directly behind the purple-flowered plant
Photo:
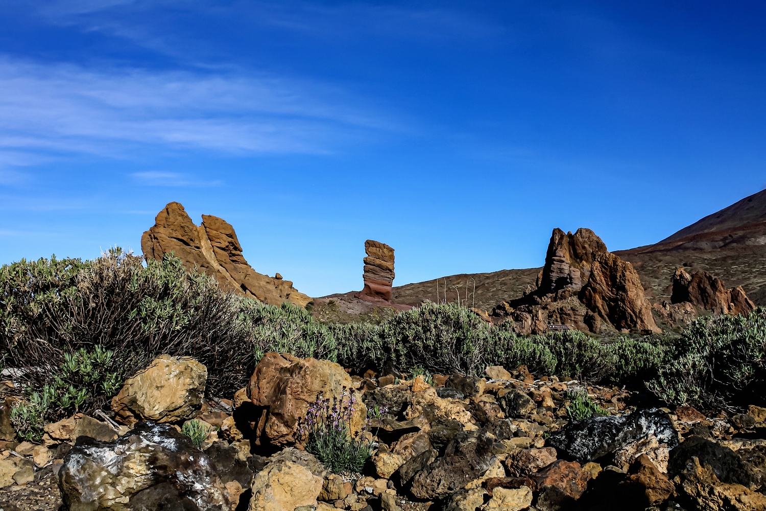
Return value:
M 298 420 L 306 416 L 309 405 L 319 395 L 332 399 L 349 393 L 355 399 L 349 426 L 356 433 L 364 427 L 367 408 L 340 365 L 329 360 L 299 359 L 289 353 L 267 353 L 250 377 L 250 401 L 264 407 L 267 414 L 256 434 L 265 434 L 274 444 L 293 443 Z

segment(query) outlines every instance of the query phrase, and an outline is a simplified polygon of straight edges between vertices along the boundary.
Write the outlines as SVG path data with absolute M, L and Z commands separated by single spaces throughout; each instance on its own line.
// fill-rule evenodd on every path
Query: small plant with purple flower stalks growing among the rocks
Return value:
M 334 473 L 360 472 L 372 454 L 372 446 L 351 433 L 356 411 L 356 396 L 348 390 L 340 397 L 325 398 L 321 393 L 300 420 L 298 434 L 306 451 Z

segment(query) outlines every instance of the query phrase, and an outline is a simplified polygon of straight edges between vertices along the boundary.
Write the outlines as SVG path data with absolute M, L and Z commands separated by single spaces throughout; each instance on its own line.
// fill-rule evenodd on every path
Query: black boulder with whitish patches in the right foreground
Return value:
M 678 445 L 673 421 L 656 408 L 573 421 L 550 434 L 545 445 L 555 447 L 559 457 L 585 464 L 649 435 L 670 449 Z

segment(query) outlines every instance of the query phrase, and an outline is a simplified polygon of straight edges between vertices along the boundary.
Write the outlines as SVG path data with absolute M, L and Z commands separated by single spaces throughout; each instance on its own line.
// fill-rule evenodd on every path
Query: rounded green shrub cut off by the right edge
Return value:
M 696 319 L 674 342 L 669 362 L 647 387 L 676 405 L 763 405 L 766 310 Z

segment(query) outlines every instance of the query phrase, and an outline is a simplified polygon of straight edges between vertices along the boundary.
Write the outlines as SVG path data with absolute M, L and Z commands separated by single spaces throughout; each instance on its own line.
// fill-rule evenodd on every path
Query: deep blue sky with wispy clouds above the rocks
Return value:
M 763 2 L 6 0 L 0 263 L 169 201 L 311 296 L 659 241 L 764 188 Z

